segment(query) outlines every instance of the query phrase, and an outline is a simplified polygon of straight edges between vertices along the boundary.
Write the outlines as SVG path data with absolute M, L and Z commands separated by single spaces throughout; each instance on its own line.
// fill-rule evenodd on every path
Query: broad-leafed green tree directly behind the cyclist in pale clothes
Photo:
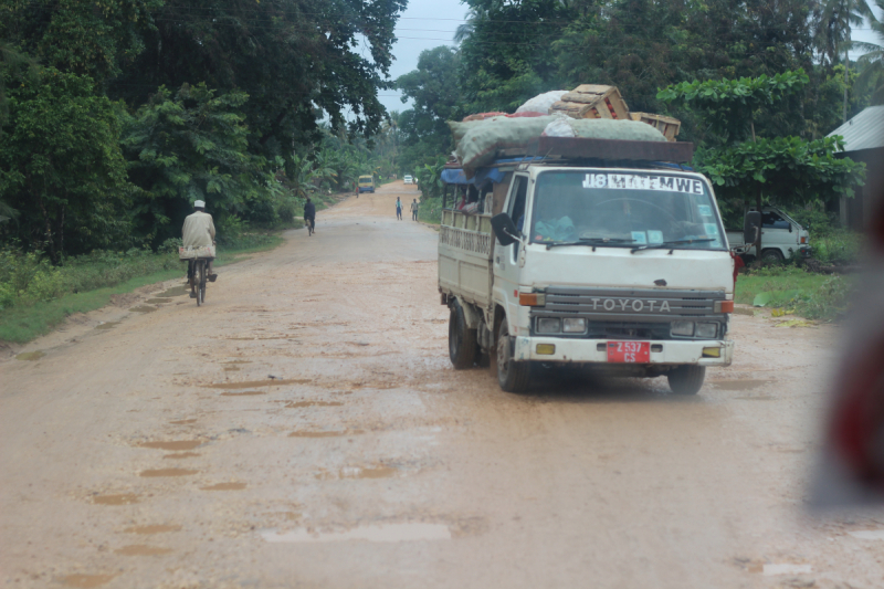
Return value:
M 133 210 L 136 229 L 155 245 L 178 236 L 194 200 L 223 224 L 225 217 L 272 217 L 278 183 L 269 161 L 248 152 L 244 92 L 215 95 L 206 84 L 161 87 L 125 117 L 122 144 L 129 178 L 140 190 Z M 276 162 L 282 165 L 282 160 Z M 266 212 L 270 210 L 270 212 Z

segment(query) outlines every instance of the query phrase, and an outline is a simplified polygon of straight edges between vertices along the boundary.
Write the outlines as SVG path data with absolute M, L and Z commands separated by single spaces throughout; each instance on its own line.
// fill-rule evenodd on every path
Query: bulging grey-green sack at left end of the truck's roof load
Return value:
M 550 116 L 495 117 L 481 123 L 466 124 L 469 127 L 457 141 L 457 149 L 454 152 L 463 166 L 466 177 L 472 178 L 476 169 L 494 161 L 498 149 L 526 147 L 528 141 L 539 137 L 555 118 Z M 449 125 L 451 126 L 451 124 Z M 648 125 L 644 126 L 651 128 Z M 452 128 L 452 133 L 454 133 L 454 128 Z

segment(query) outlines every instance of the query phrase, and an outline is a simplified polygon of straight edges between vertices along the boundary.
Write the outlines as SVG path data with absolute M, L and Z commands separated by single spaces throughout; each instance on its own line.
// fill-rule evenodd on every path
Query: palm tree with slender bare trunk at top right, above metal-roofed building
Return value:
M 851 27 L 861 25 L 864 19 L 875 17 L 869 8 L 867 0 L 821 0 L 818 9 L 815 31 L 817 48 L 823 60 L 832 64 L 839 55 L 844 54 L 844 122 L 848 120 L 848 87 L 850 75 L 850 56 L 848 52 L 853 45 Z

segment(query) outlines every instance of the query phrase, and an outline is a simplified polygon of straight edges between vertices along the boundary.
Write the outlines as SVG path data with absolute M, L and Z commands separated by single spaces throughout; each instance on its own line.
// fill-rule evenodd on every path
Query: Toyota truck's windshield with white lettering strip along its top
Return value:
M 606 170 L 537 177 L 533 243 L 722 250 L 723 234 L 706 182 L 697 178 Z

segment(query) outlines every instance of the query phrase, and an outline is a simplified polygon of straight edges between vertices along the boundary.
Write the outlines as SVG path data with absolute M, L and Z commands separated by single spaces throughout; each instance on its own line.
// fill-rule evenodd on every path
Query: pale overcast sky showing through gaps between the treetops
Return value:
M 874 7 L 873 3 L 870 2 Z M 461 0 L 411 0 L 406 12 L 400 17 L 396 28 L 398 41 L 393 45 L 393 61 L 390 67 L 390 77 L 396 80 L 402 74 L 407 74 L 418 67 L 418 56 L 421 51 L 433 49 L 439 45 L 454 44 L 452 39 L 454 30 L 464 22 L 467 6 Z M 878 19 L 884 18 L 881 11 L 876 10 Z M 880 44 L 881 40 L 863 24 L 862 28 L 853 31 L 853 39 Z M 365 51 L 367 55 L 368 50 Z M 851 59 L 856 59 L 862 52 L 851 54 Z M 369 57 L 370 59 L 370 57 Z M 587 81 L 591 83 L 591 81 Z M 385 90 L 379 94 L 380 103 L 387 111 L 404 111 L 410 106 L 410 102 L 402 104 L 398 91 Z

